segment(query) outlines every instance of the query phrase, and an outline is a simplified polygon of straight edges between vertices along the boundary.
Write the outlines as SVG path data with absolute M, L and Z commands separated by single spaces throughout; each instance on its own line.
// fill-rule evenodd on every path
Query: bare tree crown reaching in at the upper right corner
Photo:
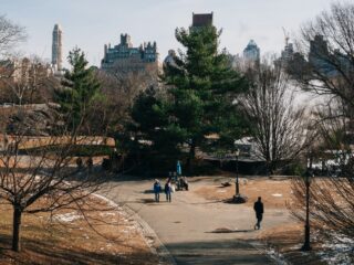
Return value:
M 354 4 L 335 2 L 301 28 L 300 52 L 309 72 L 300 75 L 305 89 L 331 95 L 354 107 Z

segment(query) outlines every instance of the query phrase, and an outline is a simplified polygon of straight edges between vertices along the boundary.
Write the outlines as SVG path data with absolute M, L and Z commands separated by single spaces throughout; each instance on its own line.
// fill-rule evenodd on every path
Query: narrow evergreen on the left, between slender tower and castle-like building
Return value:
M 87 67 L 88 62 L 84 52 L 75 47 L 69 53 L 71 71 L 66 71 L 63 87 L 55 91 L 55 102 L 60 104 L 61 112 L 66 117 L 66 123 L 72 129 L 83 127 L 81 121 L 88 123 L 87 116 L 92 114 L 94 100 L 98 99 L 101 84 L 94 75 L 94 68 Z M 91 116 L 92 117 L 92 116 Z M 88 129 L 90 126 L 86 126 Z

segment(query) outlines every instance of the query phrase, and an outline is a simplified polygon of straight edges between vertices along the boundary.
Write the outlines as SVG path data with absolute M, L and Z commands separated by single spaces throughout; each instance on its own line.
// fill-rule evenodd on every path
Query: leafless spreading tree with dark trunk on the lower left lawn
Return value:
M 92 170 L 77 174 L 75 153 L 80 147 L 93 150 L 97 145 L 110 145 L 103 136 L 79 136 L 65 126 L 49 137 L 29 137 L 25 131 L 19 126 L 14 134 L 1 137 L 0 198 L 13 208 L 13 251 L 20 251 L 22 214 L 74 206 L 84 214 L 83 209 L 90 208 L 86 199 L 105 179 Z

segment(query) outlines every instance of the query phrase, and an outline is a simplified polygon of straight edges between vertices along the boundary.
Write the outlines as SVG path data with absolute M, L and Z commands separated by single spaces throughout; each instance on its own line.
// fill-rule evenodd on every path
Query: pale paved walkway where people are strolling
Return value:
M 191 183 L 191 189 L 201 184 L 206 181 Z M 256 240 L 259 232 L 253 230 L 252 209 L 207 201 L 192 191 L 173 193 L 171 203 L 162 193 L 160 203 L 155 203 L 152 187 L 152 181 L 122 181 L 105 195 L 137 212 L 176 264 L 273 264 Z M 266 209 L 264 229 L 287 222 L 289 216 L 284 213 Z

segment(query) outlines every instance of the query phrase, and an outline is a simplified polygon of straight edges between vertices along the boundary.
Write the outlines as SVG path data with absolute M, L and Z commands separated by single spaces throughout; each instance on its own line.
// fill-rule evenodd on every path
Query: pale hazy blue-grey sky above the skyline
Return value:
M 180 47 L 175 29 L 188 28 L 192 12 L 214 12 L 214 24 L 222 29 L 220 47 L 242 53 L 253 39 L 261 53 L 280 53 L 282 28 L 296 34 L 302 23 L 327 10 L 332 0 L 0 0 L 0 14 L 25 26 L 24 55 L 51 59 L 52 31 L 63 29 L 64 61 L 74 46 L 91 64 L 100 66 L 105 43 L 118 44 L 121 33 L 134 46 L 156 41 L 159 59 Z M 290 40 L 291 41 L 291 40 Z M 67 66 L 67 64 L 64 64 Z

